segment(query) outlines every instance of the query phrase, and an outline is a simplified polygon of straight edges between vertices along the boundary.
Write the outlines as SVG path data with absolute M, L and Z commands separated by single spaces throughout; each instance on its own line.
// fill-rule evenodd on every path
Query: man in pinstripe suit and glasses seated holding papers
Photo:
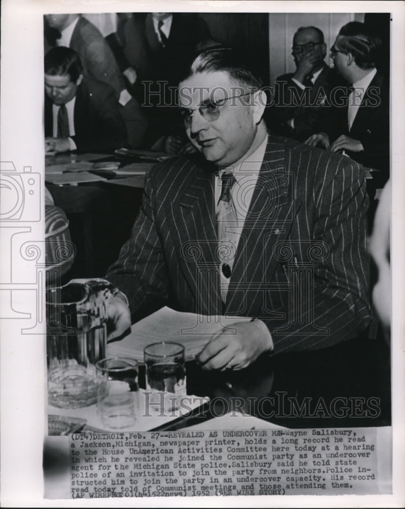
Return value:
M 179 103 L 199 155 L 146 177 L 131 238 L 107 274 L 129 301 L 111 302 L 110 337 L 165 304 L 251 318 L 199 354 L 205 369 L 222 370 L 357 336 L 370 319 L 359 165 L 268 134 L 261 84 L 230 49 L 196 58 Z

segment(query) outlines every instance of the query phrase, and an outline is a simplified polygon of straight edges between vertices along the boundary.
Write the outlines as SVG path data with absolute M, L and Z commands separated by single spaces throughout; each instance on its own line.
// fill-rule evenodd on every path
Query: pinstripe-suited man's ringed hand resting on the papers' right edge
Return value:
M 222 329 L 196 357 L 204 370 L 224 370 L 231 366 L 233 370 L 241 370 L 261 353 L 273 349 L 272 336 L 261 320 L 234 323 L 230 327 L 236 328 L 237 333 L 229 334 L 229 330 Z

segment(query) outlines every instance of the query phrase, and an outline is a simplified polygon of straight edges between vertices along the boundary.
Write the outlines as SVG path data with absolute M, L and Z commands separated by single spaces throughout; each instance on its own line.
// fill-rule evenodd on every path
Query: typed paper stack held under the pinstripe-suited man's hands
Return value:
M 232 324 L 247 321 L 250 318 L 202 316 L 163 307 L 132 325 L 131 333 L 123 340 L 109 343 L 107 353 L 109 356 L 130 357 L 143 362 L 146 346 L 166 341 L 183 345 L 185 359 L 193 360 L 213 334 L 226 327 L 227 334 L 236 335 L 236 328 Z

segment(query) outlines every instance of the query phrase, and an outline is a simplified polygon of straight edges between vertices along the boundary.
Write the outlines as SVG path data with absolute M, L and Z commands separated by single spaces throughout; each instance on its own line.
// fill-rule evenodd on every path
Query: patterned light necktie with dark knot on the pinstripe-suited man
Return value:
M 222 189 L 216 219 L 218 221 L 218 253 L 221 263 L 221 298 L 225 302 L 236 255 L 236 239 L 232 227 L 237 225 L 237 217 L 231 199 L 231 189 L 236 180 L 232 173 L 223 173 L 221 180 Z

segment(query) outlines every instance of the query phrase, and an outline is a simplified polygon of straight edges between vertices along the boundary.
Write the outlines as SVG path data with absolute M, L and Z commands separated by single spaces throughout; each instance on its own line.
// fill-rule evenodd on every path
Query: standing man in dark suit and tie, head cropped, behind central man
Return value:
M 198 14 L 133 13 L 120 21 L 118 38 L 129 63 L 121 71 L 147 111 L 146 146 L 159 141 L 155 149 L 178 153 L 186 139 L 177 115 L 176 88 L 197 46 L 211 40 L 205 21 Z

